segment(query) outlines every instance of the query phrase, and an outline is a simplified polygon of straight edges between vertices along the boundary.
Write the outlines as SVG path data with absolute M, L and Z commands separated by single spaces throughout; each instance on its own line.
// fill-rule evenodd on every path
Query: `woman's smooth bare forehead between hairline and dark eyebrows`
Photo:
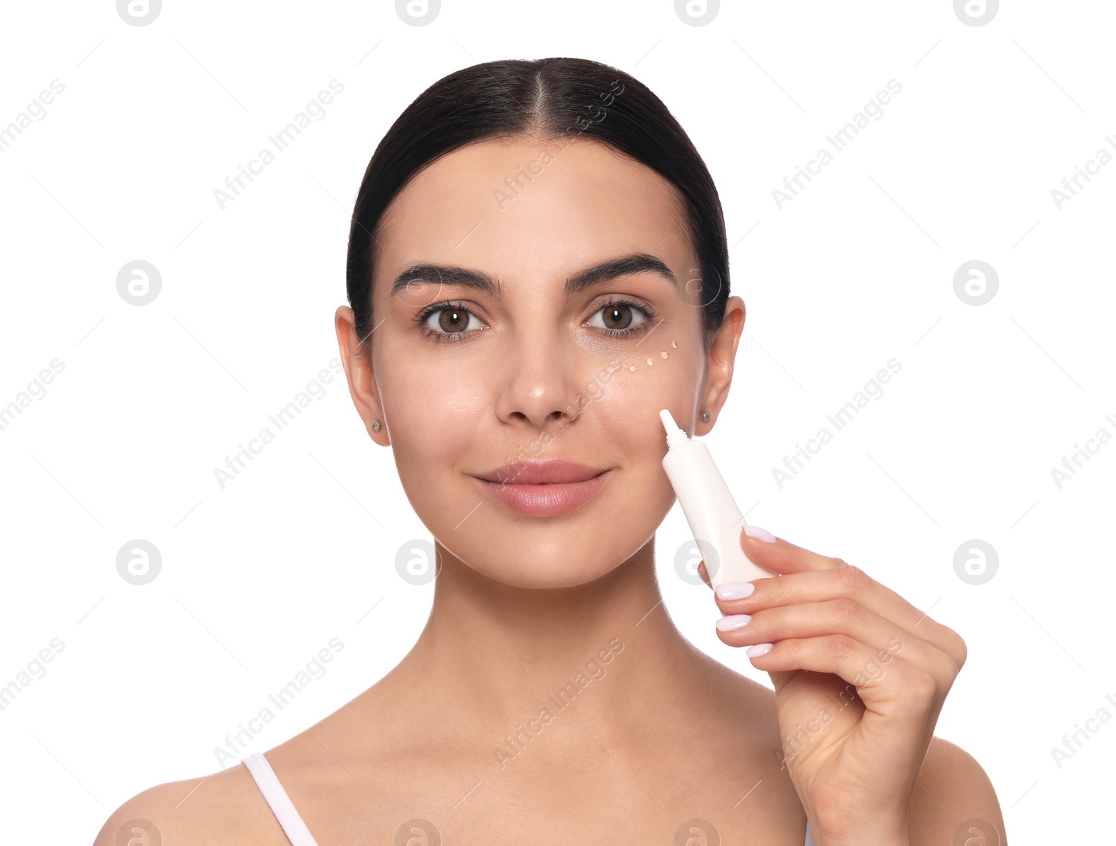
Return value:
M 695 263 L 679 191 L 646 165 L 585 138 L 455 150 L 396 195 L 378 241 L 377 288 L 427 261 L 507 280 L 565 280 L 635 252 L 661 259 L 679 279 Z

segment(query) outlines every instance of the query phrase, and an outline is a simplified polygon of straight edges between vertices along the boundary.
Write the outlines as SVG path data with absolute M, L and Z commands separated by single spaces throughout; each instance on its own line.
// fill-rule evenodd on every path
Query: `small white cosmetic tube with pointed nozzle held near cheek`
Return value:
M 752 561 L 740 546 L 744 516 L 713 463 L 704 441 L 689 438 L 671 413 L 658 412 L 666 430 L 663 469 L 698 541 L 710 584 L 751 581 L 773 575 Z

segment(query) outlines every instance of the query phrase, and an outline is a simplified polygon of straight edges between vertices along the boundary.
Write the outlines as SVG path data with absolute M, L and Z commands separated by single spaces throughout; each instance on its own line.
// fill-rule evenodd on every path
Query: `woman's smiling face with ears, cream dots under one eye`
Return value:
M 585 138 L 474 144 L 395 198 L 374 267 L 371 368 L 346 364 L 350 390 L 451 555 L 569 587 L 654 537 L 674 499 L 658 412 L 687 431 L 715 415 L 742 328 L 702 353 L 715 288 L 668 182 Z

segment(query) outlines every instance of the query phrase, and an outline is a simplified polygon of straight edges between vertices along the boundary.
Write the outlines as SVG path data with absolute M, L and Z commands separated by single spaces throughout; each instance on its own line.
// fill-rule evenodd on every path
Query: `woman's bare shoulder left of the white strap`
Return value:
M 105 820 L 93 846 L 127 843 L 289 846 L 251 773 L 240 763 L 133 796 Z

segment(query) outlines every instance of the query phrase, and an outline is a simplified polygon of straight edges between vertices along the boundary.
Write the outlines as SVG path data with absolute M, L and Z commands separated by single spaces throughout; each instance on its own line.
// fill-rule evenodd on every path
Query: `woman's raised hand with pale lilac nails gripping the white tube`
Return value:
M 775 684 L 783 765 L 818 846 L 907 844 L 907 809 L 964 641 L 839 558 L 749 526 L 778 577 L 723 584 L 718 636 Z M 772 538 L 768 540 L 767 538 Z M 704 563 L 702 577 L 709 581 Z M 754 586 L 754 588 L 753 588 Z

